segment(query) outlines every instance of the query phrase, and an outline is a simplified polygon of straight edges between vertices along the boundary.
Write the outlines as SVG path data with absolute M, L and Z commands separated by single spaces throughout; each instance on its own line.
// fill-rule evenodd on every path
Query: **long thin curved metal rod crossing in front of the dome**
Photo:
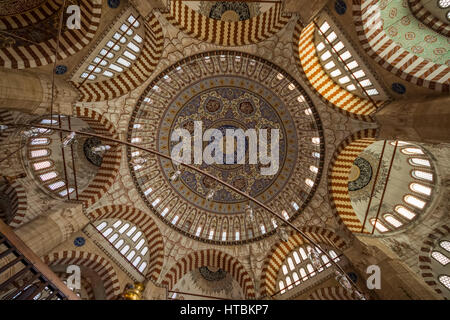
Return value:
M 136 149 L 139 149 L 139 150 L 142 150 L 142 151 L 149 152 L 149 153 L 151 153 L 151 154 L 153 154 L 153 155 L 159 156 L 159 157 L 164 158 L 164 159 L 167 159 L 167 160 L 172 160 L 172 157 L 171 157 L 171 156 L 168 156 L 168 155 L 166 155 L 166 154 L 163 154 L 163 153 L 161 153 L 161 152 L 159 152 L 159 151 L 156 151 L 156 150 L 153 150 L 153 149 L 149 149 L 149 148 L 144 148 L 144 147 L 141 147 L 141 146 L 139 146 L 139 145 L 130 143 L 130 142 L 128 142 L 128 141 L 122 141 L 122 140 L 120 140 L 120 139 L 115 139 L 115 138 L 112 138 L 112 137 L 106 137 L 106 136 L 102 136 L 102 135 L 95 134 L 95 133 L 81 132 L 81 131 L 76 131 L 76 130 L 69 130 L 69 129 L 64 129 L 64 128 L 50 127 L 50 126 L 43 126 L 43 125 L 40 125 L 40 124 L 39 124 L 39 125 L 35 125 L 35 124 L 31 125 L 31 124 L 25 124 L 25 123 L 11 123 L 11 124 L 6 124 L 6 125 L 8 125 L 8 126 L 37 127 L 37 128 L 44 128 L 44 129 L 57 130 L 57 131 L 60 131 L 60 132 L 74 132 L 75 134 L 78 134 L 78 135 L 81 135 L 81 136 L 96 137 L 96 138 L 99 138 L 99 139 L 102 139 L 102 140 L 108 140 L 108 141 L 116 142 L 116 143 L 119 143 L 119 144 L 122 144 L 122 145 L 126 145 L 126 146 L 133 147 L 133 148 L 136 148 Z M 271 213 L 273 216 L 277 217 L 278 219 L 280 219 L 281 221 L 283 221 L 284 223 L 286 223 L 287 225 L 289 225 L 292 229 L 294 229 L 295 231 L 297 231 L 297 232 L 298 232 L 305 240 L 307 240 L 308 242 L 310 242 L 311 244 L 313 244 L 313 245 L 316 247 L 316 249 L 318 249 L 319 251 L 321 251 L 322 254 L 324 254 L 324 255 L 330 260 L 330 262 L 331 262 L 332 264 L 334 264 L 334 266 L 335 266 L 339 271 L 342 272 L 342 274 L 343 274 L 343 275 L 347 278 L 347 280 L 350 282 L 351 286 L 352 286 L 358 293 L 361 294 L 361 292 L 358 290 L 358 287 L 356 287 L 356 285 L 355 285 L 355 283 L 352 281 L 352 279 L 350 279 L 350 277 L 347 275 L 347 273 L 344 271 L 344 269 L 343 269 L 339 264 L 337 264 L 337 263 L 334 261 L 334 259 L 326 252 L 326 250 L 323 250 L 323 249 L 320 247 L 320 245 L 318 245 L 311 237 L 309 237 L 307 234 L 305 234 L 302 230 L 300 230 L 299 228 L 297 228 L 297 227 L 296 227 L 294 224 L 292 224 L 291 222 L 285 220 L 281 215 L 279 215 L 278 213 L 276 213 L 276 212 L 275 212 L 274 210 L 272 210 L 269 206 L 265 205 L 264 203 L 262 203 L 262 202 L 259 201 L 258 199 L 253 198 L 253 197 L 250 196 L 249 194 L 247 194 L 247 193 L 241 191 L 240 189 L 238 189 L 238 188 L 232 186 L 231 184 L 229 184 L 229 183 L 227 183 L 227 182 L 225 182 L 225 181 L 222 181 L 222 180 L 216 178 L 215 176 L 213 176 L 212 174 L 210 174 L 210 173 L 208 173 L 208 172 L 206 172 L 206 171 L 203 171 L 203 170 L 201 170 L 201 169 L 199 169 L 199 168 L 197 168 L 197 167 L 195 167 L 195 166 L 193 166 L 193 165 L 191 165 L 191 164 L 186 164 L 186 163 L 182 163 L 182 162 L 181 162 L 180 164 L 181 164 L 182 166 L 186 167 L 186 168 L 189 168 L 189 169 L 191 169 L 191 170 L 193 170 L 193 171 L 196 171 L 196 172 L 198 172 L 198 173 L 200 173 L 200 174 L 202 174 L 202 175 L 205 175 L 205 176 L 207 176 L 207 177 L 213 179 L 214 181 L 216 181 L 216 182 L 218 182 L 218 183 L 224 185 L 225 187 L 227 187 L 227 188 L 233 190 L 233 191 L 236 192 L 237 194 L 239 194 L 239 195 L 241 195 L 241 196 L 243 196 L 243 197 L 249 199 L 250 201 L 253 201 L 254 203 L 256 203 L 257 205 L 259 205 L 259 206 L 262 207 L 263 209 L 267 210 L 267 211 L 268 211 L 269 213 Z

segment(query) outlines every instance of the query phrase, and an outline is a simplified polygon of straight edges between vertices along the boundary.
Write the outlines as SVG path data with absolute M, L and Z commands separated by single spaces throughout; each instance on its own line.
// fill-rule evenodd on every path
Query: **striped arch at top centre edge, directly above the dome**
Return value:
M 163 16 L 181 31 L 220 46 L 242 46 L 266 40 L 283 29 L 290 19 L 283 16 L 280 3 L 251 19 L 228 22 L 208 18 L 181 1 L 171 1 L 169 12 Z

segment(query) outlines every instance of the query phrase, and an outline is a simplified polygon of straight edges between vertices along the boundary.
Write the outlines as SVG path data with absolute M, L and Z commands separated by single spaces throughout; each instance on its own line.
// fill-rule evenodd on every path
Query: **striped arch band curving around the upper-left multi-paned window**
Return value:
M 87 80 L 81 86 L 74 82 L 75 87 L 81 92 L 81 101 L 103 101 L 123 96 L 137 88 L 151 76 L 161 58 L 164 36 L 161 25 L 155 15 L 148 16 L 146 21 L 143 21 L 143 24 L 145 27 L 145 39 L 139 57 L 127 70 L 117 73 L 111 79 L 99 82 Z M 107 53 L 104 55 L 107 55 Z

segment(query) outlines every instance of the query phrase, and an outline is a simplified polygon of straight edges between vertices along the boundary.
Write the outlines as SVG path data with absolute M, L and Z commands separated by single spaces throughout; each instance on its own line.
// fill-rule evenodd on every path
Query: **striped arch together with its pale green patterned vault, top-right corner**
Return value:
M 407 1 L 353 0 L 353 18 L 362 46 L 381 66 L 413 84 L 450 91 L 448 39 L 414 18 Z

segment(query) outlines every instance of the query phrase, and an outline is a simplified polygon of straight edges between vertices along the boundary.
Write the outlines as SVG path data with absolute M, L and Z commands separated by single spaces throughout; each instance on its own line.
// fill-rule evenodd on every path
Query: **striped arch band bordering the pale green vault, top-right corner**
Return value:
M 353 19 L 367 54 L 400 78 L 441 92 L 450 91 L 450 67 L 419 57 L 389 38 L 383 30 L 379 0 L 353 0 Z

